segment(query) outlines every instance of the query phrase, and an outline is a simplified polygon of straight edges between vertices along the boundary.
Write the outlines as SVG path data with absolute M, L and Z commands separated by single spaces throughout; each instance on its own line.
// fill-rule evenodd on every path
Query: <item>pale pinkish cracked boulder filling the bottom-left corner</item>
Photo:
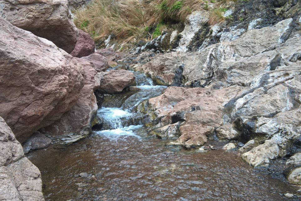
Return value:
M 0 199 L 44 200 L 39 169 L 25 156 L 21 144 L 0 117 Z

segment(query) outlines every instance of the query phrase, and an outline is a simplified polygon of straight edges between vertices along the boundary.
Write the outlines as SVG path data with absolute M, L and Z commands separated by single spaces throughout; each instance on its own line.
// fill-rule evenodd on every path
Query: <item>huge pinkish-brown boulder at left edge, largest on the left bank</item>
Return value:
M 77 101 L 83 68 L 52 42 L 0 18 L 0 115 L 19 142 Z

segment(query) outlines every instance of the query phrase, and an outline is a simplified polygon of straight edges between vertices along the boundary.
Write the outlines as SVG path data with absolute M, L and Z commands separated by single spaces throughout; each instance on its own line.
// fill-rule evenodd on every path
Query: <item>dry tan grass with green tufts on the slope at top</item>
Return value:
M 187 15 L 197 10 L 212 10 L 210 24 L 224 21 L 225 8 L 237 0 L 94 0 L 85 8 L 75 10 L 74 23 L 90 33 L 95 41 L 112 35 L 117 43 L 151 40 L 161 35 L 166 23 L 184 22 Z M 216 12 L 215 10 L 220 12 Z M 216 17 L 218 15 L 218 17 Z

